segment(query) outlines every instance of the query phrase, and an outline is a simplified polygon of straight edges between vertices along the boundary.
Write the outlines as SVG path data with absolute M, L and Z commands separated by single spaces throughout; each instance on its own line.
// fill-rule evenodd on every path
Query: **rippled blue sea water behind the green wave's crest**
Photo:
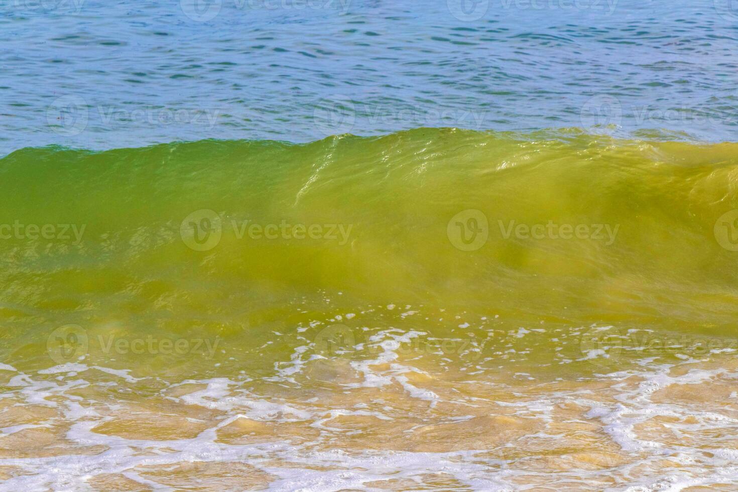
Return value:
M 3 2 L 0 153 L 423 126 L 712 142 L 738 128 L 728 1 L 188 1 Z

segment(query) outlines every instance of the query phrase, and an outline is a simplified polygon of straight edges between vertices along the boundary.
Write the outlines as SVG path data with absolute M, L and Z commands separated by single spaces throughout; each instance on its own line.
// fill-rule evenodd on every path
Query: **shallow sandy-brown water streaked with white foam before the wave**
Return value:
M 614 373 L 590 359 L 572 362 L 581 376 L 553 378 L 511 373 L 494 358 L 444 367 L 445 355 L 399 350 L 396 340 L 385 336 L 376 358 L 311 358 L 262 380 L 167 384 L 86 364 L 5 367 L 0 473 L 29 490 L 100 491 L 735 483 L 733 356 L 637 358 Z

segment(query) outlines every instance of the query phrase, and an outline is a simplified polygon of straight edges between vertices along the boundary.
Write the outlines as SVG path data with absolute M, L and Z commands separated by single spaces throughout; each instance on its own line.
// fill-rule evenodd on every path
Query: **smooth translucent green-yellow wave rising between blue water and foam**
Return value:
M 580 131 L 28 148 L 0 159 L 0 322 L 246 344 L 329 298 L 724 333 L 737 187 L 738 144 Z

